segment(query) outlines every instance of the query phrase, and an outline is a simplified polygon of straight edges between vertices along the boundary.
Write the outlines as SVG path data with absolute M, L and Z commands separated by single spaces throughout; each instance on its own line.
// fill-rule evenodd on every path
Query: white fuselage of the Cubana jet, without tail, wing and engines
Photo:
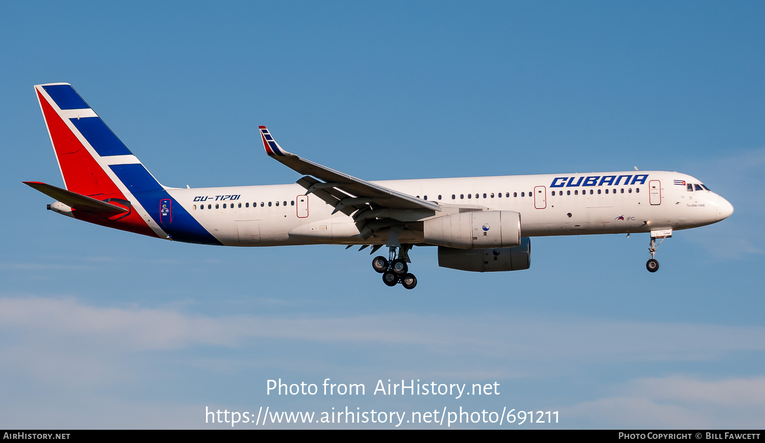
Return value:
M 683 183 L 681 183 L 683 182 Z M 443 205 L 519 212 L 524 237 L 617 234 L 709 225 L 730 203 L 692 176 L 666 171 L 540 174 L 372 182 Z M 692 186 L 688 186 L 692 185 Z M 168 189 L 200 225 L 226 246 L 385 244 L 363 240 L 353 219 L 297 184 Z M 441 215 L 438 212 L 435 216 Z M 148 218 L 148 217 L 147 217 Z M 402 243 L 422 244 L 407 229 Z

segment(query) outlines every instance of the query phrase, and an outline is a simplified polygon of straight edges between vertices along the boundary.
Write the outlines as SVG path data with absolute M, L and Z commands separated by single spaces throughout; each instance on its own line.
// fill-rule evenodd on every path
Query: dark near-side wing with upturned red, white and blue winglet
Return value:
M 304 174 L 305 176 L 296 183 L 308 189 L 307 194 L 313 192 L 333 205 L 336 211 L 350 215 L 367 205 L 372 205 L 370 207 L 375 209 L 425 209 L 441 212 L 441 206 L 435 202 L 369 183 L 291 154 L 276 143 L 268 128 L 259 128 L 265 152 L 291 170 Z M 349 212 L 349 209 L 353 210 Z

